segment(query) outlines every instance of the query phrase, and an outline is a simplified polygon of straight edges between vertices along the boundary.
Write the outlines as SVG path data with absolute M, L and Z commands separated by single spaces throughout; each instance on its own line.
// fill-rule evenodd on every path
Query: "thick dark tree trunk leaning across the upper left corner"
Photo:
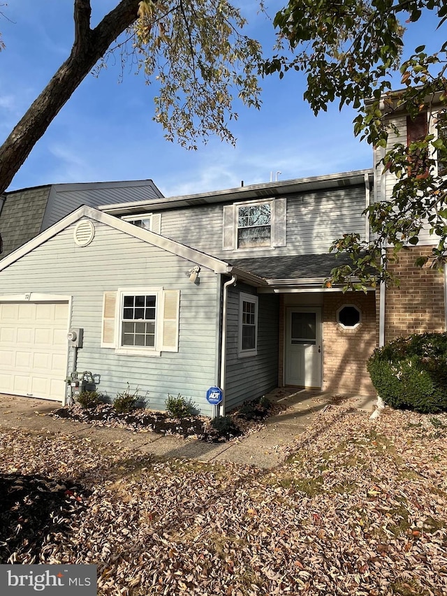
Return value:
M 8 188 L 34 145 L 91 68 L 105 54 L 110 44 L 136 20 L 138 3 L 138 0 L 121 0 L 91 30 L 85 27 L 85 13 L 82 16 L 78 14 L 78 2 L 75 1 L 76 38 L 70 57 L 54 74 L 0 147 L 0 195 Z M 87 5 L 89 6 L 89 1 Z M 85 6 L 83 8 L 85 10 Z M 80 18 L 84 22 L 78 27 Z

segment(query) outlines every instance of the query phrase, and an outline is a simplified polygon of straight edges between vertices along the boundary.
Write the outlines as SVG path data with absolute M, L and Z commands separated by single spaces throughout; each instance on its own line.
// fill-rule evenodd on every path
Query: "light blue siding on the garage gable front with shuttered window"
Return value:
M 202 268 L 200 284 L 185 275 L 194 265 L 114 228 L 95 222 L 87 247 L 68 227 L 0 272 L 0 295 L 48 293 L 72 296 L 71 326 L 84 329 L 77 370 L 101 375 L 98 391 L 113 398 L 127 382 L 138 387 L 147 407 L 164 409 L 168 393 L 191 398 L 203 414 L 212 407 L 207 388 L 217 384 L 219 279 Z M 101 348 L 103 293 L 118 288 L 163 286 L 180 291 L 179 351 L 161 356 L 126 356 Z M 68 370 L 68 372 L 71 372 Z

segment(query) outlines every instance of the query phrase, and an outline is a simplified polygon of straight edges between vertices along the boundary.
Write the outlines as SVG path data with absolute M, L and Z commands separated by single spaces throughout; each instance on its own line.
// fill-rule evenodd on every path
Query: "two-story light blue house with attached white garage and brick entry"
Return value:
M 87 206 L 0 262 L 0 392 L 64 400 L 67 375 L 211 414 L 276 386 L 371 393 L 376 296 L 323 283 L 367 237 L 373 171 Z M 83 336 L 79 330 L 83 330 Z M 67 340 L 74 330 L 77 340 Z

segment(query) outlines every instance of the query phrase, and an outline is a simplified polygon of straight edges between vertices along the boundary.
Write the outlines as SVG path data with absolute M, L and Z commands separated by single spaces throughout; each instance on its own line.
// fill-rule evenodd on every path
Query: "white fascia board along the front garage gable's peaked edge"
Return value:
M 161 236 L 155 232 L 138 228 L 133 224 L 129 224 L 128 221 L 124 221 L 123 219 L 118 219 L 117 217 L 108 215 L 102 211 L 98 211 L 94 207 L 82 205 L 82 207 L 76 209 L 60 221 L 57 221 L 56 224 L 50 228 L 47 228 L 35 238 L 29 240 L 29 242 L 2 259 L 0 261 L 0 271 L 6 269 L 6 267 L 10 266 L 11 263 L 14 263 L 18 259 L 21 259 L 22 256 L 25 256 L 32 250 L 36 249 L 38 246 L 43 244 L 43 242 L 50 240 L 50 238 L 53 238 L 59 232 L 63 231 L 68 226 L 71 226 L 71 224 L 74 224 L 75 221 L 82 219 L 82 217 L 88 217 L 89 219 L 100 221 L 102 224 L 133 236 L 133 238 L 138 238 L 139 240 L 142 240 L 142 242 L 147 242 L 147 244 L 154 245 L 166 250 L 167 252 L 181 256 L 187 261 L 191 261 L 202 267 L 206 267 L 207 269 L 214 271 L 214 273 L 229 273 L 233 269 L 232 266 L 228 265 L 228 263 L 225 263 L 220 259 L 216 259 L 214 256 L 210 256 L 204 252 L 200 252 L 186 245 L 182 245 L 179 242 L 175 242 L 175 240 L 170 240 L 170 238 L 166 238 L 165 236 Z

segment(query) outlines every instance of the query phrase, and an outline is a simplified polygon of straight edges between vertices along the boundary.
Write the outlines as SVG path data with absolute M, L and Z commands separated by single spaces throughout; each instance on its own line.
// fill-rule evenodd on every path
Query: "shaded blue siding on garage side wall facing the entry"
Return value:
M 239 358 L 239 294 L 256 291 L 237 284 L 228 292 L 226 410 L 268 393 L 278 382 L 279 296 L 258 296 L 258 354 Z

